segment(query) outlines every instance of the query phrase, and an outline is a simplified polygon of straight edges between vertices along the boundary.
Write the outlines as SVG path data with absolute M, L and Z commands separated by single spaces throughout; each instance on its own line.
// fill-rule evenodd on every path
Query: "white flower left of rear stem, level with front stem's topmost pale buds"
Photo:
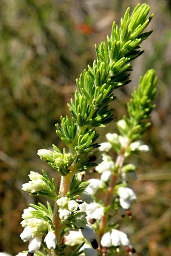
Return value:
M 115 167 L 112 157 L 107 154 L 103 154 L 102 159 L 103 161 L 95 168 L 97 172 L 100 174 L 103 174 L 106 170 L 110 170 L 112 172 Z

